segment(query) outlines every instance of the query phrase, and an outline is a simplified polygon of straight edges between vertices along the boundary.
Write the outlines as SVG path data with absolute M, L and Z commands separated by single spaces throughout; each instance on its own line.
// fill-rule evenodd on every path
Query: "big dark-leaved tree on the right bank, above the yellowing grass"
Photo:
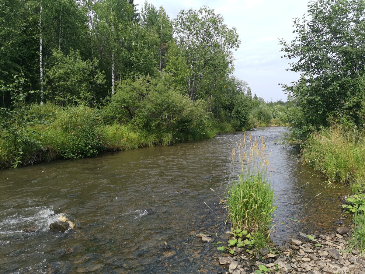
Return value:
M 302 20 L 294 20 L 295 39 L 280 41 L 283 57 L 295 60 L 290 71 L 301 73 L 283 85 L 300 108 L 300 116 L 289 117 L 294 138 L 330 126 L 331 117 L 363 127 L 364 11 L 362 0 L 313 1 Z

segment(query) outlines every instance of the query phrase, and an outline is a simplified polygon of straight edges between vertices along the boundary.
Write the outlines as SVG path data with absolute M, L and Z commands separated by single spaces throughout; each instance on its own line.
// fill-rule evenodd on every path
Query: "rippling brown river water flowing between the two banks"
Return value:
M 266 142 L 276 195 L 274 243 L 299 231 L 332 232 L 347 190 L 297 163 L 278 145 L 284 128 L 251 132 Z M 248 136 L 246 136 L 248 137 Z M 227 239 L 219 205 L 230 182 L 231 154 L 243 133 L 73 161 L 0 171 L 1 273 L 220 273 L 212 243 Z M 215 191 L 212 191 L 212 189 Z M 319 194 L 319 195 L 318 195 Z M 65 233 L 49 224 L 66 214 Z M 301 222 L 293 221 L 299 220 Z M 23 232 L 33 227 L 35 232 Z M 164 251 L 167 241 L 171 251 Z

